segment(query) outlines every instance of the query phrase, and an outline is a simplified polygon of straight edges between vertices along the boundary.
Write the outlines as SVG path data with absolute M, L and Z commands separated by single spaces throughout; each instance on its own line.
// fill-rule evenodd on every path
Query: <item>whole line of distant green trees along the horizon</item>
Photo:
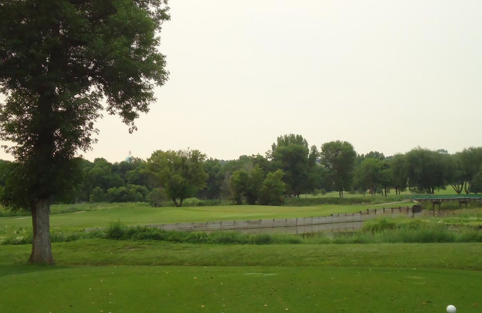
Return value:
M 133 157 L 110 163 L 75 160 L 76 183 L 57 203 L 147 201 L 160 206 L 172 200 L 182 206 L 190 197 L 226 199 L 236 204 L 281 205 L 283 197 L 335 191 L 387 196 L 434 194 L 451 185 L 457 194 L 482 192 L 482 147 L 455 154 L 416 147 L 385 157 L 371 151 L 358 154 L 346 141 L 308 146 L 301 135 L 277 138 L 265 156 L 243 155 L 234 160 L 207 158 L 199 150 L 155 151 L 147 160 Z M 16 163 L 0 161 L 0 196 L 8 194 Z M 12 184 L 11 186 L 15 186 Z

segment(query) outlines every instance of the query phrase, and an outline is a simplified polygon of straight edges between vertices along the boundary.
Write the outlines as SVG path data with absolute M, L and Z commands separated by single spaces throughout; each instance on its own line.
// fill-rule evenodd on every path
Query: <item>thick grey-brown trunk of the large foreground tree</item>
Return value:
M 32 208 L 32 254 L 31 263 L 54 264 L 50 244 L 50 200 L 36 199 Z

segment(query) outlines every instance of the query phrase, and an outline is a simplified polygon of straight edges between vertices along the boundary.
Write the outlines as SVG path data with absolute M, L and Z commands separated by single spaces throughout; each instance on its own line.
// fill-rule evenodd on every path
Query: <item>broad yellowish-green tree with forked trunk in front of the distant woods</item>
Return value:
M 202 166 L 205 159 L 199 150 L 157 150 L 147 159 L 147 170 L 174 205 L 182 207 L 184 199 L 206 186 L 208 175 Z

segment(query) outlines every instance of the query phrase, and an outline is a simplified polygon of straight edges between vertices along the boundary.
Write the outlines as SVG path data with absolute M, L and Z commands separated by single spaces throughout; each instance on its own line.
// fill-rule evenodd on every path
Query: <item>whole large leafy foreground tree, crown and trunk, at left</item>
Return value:
M 0 1 L 0 138 L 18 162 L 1 203 L 31 211 L 31 262 L 54 263 L 51 198 L 70 188 L 103 104 L 133 131 L 166 81 L 167 10 L 165 0 Z

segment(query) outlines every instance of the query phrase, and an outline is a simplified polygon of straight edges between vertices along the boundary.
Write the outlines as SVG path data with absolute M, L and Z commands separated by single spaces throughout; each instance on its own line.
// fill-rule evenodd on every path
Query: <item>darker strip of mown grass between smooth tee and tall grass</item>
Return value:
M 218 245 L 83 239 L 52 245 L 57 265 L 350 266 L 482 270 L 482 244 Z M 31 245 L 0 246 L 25 264 Z

